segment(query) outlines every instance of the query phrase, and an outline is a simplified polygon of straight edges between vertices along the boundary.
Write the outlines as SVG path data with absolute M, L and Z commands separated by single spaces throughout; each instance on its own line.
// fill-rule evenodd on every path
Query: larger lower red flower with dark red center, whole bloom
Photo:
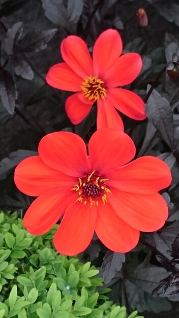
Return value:
M 25 194 L 39 196 L 23 225 L 29 233 L 47 232 L 59 218 L 54 236 L 58 252 L 75 255 L 90 244 L 94 231 L 111 250 L 127 252 L 139 231 L 156 231 L 168 216 L 157 193 L 171 182 L 168 166 L 153 156 L 135 155 L 131 138 L 120 130 L 101 129 L 88 144 L 68 132 L 45 136 L 39 156 L 23 160 L 15 183 Z

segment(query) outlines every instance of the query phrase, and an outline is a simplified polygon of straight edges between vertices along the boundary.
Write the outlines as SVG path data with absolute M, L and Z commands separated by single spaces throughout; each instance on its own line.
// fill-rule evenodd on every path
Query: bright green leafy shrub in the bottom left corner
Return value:
M 0 213 L 0 318 L 126 318 L 90 262 L 58 255 L 47 234 L 27 233 L 17 213 Z M 142 318 L 137 311 L 128 318 Z

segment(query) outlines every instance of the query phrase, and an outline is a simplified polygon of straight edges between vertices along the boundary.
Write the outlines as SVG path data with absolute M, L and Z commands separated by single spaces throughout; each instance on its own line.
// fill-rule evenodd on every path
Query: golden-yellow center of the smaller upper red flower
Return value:
M 99 98 L 105 99 L 106 88 L 104 86 L 104 81 L 98 79 L 96 76 L 88 76 L 81 85 L 83 91 L 83 96 L 88 101 L 95 100 L 98 101 Z

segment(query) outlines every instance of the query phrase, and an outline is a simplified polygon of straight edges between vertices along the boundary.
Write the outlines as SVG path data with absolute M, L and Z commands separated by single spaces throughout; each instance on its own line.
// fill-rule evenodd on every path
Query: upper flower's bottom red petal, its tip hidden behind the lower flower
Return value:
M 98 101 L 98 113 L 97 113 L 97 129 L 101 128 L 114 128 L 124 132 L 123 120 L 116 112 L 115 108 L 111 106 L 111 103 L 105 99 L 99 99 Z

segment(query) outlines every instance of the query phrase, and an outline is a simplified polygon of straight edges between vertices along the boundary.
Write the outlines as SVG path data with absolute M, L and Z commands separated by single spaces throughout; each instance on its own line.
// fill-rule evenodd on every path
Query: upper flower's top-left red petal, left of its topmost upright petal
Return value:
M 61 44 L 62 57 L 81 78 L 93 75 L 93 63 L 86 43 L 77 36 L 68 36 Z

